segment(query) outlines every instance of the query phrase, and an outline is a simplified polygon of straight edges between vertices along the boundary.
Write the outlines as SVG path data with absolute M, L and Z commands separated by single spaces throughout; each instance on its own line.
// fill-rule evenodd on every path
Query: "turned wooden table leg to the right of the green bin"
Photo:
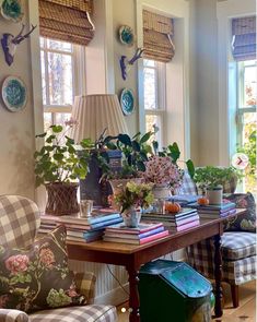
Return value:
M 223 314 L 222 311 L 222 255 L 221 255 L 221 236 L 214 236 L 214 277 L 215 277 L 215 318 Z

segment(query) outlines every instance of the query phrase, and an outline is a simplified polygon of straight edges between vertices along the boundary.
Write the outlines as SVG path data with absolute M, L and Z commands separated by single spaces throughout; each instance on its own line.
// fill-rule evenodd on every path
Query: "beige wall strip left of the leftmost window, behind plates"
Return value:
M 28 1 L 24 1 L 24 20 L 28 29 Z M 2 33 L 16 35 L 21 24 L 8 22 L 0 17 L 0 36 Z M 38 28 L 33 37 L 37 35 Z M 38 68 L 38 67 L 35 67 Z M 22 194 L 35 198 L 33 154 L 35 150 L 34 108 L 42 109 L 42 104 L 34 106 L 33 71 L 31 40 L 25 39 L 17 46 L 14 62 L 9 67 L 0 48 L 0 83 L 8 75 L 20 76 L 27 86 L 26 107 L 19 112 L 9 111 L 0 99 L 0 194 Z M 40 97 L 40 94 L 39 94 Z M 38 102 L 35 102 L 38 104 Z

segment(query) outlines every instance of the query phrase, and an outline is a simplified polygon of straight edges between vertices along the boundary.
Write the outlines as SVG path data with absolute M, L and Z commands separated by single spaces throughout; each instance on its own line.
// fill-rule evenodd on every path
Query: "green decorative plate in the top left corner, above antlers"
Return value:
M 24 12 L 21 0 L 2 0 L 1 14 L 4 19 L 13 22 L 20 22 L 23 19 Z

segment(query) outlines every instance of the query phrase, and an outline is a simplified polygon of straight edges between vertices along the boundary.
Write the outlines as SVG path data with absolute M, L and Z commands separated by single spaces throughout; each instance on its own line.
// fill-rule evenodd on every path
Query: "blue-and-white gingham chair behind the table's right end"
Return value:
M 231 192 L 231 187 L 223 187 Z M 182 191 L 197 194 L 197 188 L 189 175 L 185 175 Z M 247 195 L 247 194 L 245 194 Z M 238 206 L 238 204 L 237 204 Z M 226 231 L 222 236 L 223 282 L 231 286 L 233 306 L 238 307 L 238 286 L 256 279 L 256 234 L 248 231 Z M 214 279 L 214 245 L 209 238 L 186 249 L 188 263 L 208 278 Z

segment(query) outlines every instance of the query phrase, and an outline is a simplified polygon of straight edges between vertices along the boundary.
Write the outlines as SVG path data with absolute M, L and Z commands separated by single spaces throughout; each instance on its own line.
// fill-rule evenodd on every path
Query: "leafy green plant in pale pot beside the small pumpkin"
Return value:
M 207 194 L 211 204 L 220 204 L 222 203 L 223 187 L 233 183 L 233 190 L 235 190 L 234 182 L 240 176 L 238 170 L 234 167 L 206 166 L 196 169 L 194 181 L 202 190 L 202 193 Z

